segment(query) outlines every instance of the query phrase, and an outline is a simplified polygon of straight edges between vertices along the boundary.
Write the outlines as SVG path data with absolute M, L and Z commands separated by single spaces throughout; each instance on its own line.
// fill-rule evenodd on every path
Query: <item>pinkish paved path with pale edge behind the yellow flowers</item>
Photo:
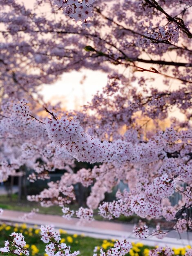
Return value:
M 4 210 L 0 216 L 0 220 L 7 222 L 27 223 L 28 225 L 53 225 L 56 229 L 65 229 L 69 234 L 85 234 L 85 236 L 91 236 L 94 238 L 102 239 L 120 239 L 128 238 L 130 242 L 142 242 L 145 245 L 168 245 L 170 247 L 184 247 L 190 245 L 192 241 L 192 233 L 185 232 L 182 234 L 182 239 L 179 239 L 179 235 L 176 231 L 172 231 L 166 238 L 158 239 L 155 237 L 147 238 L 145 240 L 138 240 L 132 234 L 133 225 L 124 223 L 114 223 L 109 221 L 98 221 L 85 223 L 84 225 L 78 225 L 78 219 L 73 218 L 71 220 L 65 220 L 61 216 L 39 214 L 36 213 L 33 218 L 28 218 L 23 221 L 21 217 L 25 212 Z

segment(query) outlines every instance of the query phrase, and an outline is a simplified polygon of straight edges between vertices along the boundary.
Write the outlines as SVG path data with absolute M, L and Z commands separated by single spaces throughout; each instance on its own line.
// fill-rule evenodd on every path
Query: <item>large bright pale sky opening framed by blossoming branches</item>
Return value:
M 83 83 L 83 76 L 86 76 Z M 53 85 L 42 85 L 40 94 L 45 102 L 58 103 L 68 110 L 79 109 L 87 101 L 91 101 L 92 96 L 102 90 L 107 83 L 107 74 L 100 71 L 83 70 L 64 73 L 60 80 Z

